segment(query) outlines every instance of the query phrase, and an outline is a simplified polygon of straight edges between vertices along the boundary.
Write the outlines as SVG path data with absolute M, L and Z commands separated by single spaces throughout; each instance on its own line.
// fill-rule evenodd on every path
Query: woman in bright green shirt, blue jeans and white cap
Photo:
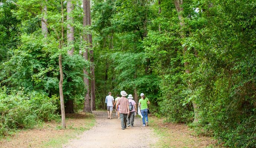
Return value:
M 141 99 L 139 100 L 139 107 L 141 110 L 141 114 L 142 114 L 142 122 L 143 122 L 143 127 L 145 127 L 146 125 L 148 126 L 148 104 L 150 104 L 150 101 L 148 100 L 148 98 L 145 98 L 145 95 L 143 93 L 141 93 Z M 146 120 L 146 122 L 145 122 Z

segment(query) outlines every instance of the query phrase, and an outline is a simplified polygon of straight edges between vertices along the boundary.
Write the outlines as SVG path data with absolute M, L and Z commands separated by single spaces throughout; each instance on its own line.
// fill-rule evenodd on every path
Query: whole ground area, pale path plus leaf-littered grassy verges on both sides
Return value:
M 115 112 L 114 112 L 115 113 Z M 164 124 L 149 117 L 149 127 L 142 127 L 136 117 L 134 127 L 121 129 L 116 115 L 107 118 L 106 111 L 93 114 L 68 114 L 67 128 L 60 123 L 47 122 L 34 129 L 21 130 L 0 140 L 0 148 L 213 148 L 216 141 L 210 137 L 193 136 L 184 124 Z M 94 118 L 95 117 L 95 118 Z

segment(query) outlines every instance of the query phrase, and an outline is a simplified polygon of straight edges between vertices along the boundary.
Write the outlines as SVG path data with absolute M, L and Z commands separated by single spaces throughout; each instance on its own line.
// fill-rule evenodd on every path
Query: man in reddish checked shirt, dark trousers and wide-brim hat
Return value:
M 119 108 L 120 120 L 121 120 L 121 127 L 125 129 L 127 127 L 127 115 L 130 113 L 129 111 L 129 101 L 125 97 L 127 93 L 125 91 L 121 91 L 121 98 L 118 99 L 116 108 Z

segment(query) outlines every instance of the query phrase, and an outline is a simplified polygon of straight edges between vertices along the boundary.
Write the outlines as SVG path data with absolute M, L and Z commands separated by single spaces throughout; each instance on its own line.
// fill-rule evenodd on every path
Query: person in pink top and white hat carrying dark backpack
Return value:
M 135 115 L 135 112 L 137 112 L 136 103 L 132 99 L 133 99 L 132 95 L 129 94 L 128 95 L 128 101 L 129 101 L 130 114 L 127 116 L 127 126 L 128 127 L 133 127 L 134 115 Z

